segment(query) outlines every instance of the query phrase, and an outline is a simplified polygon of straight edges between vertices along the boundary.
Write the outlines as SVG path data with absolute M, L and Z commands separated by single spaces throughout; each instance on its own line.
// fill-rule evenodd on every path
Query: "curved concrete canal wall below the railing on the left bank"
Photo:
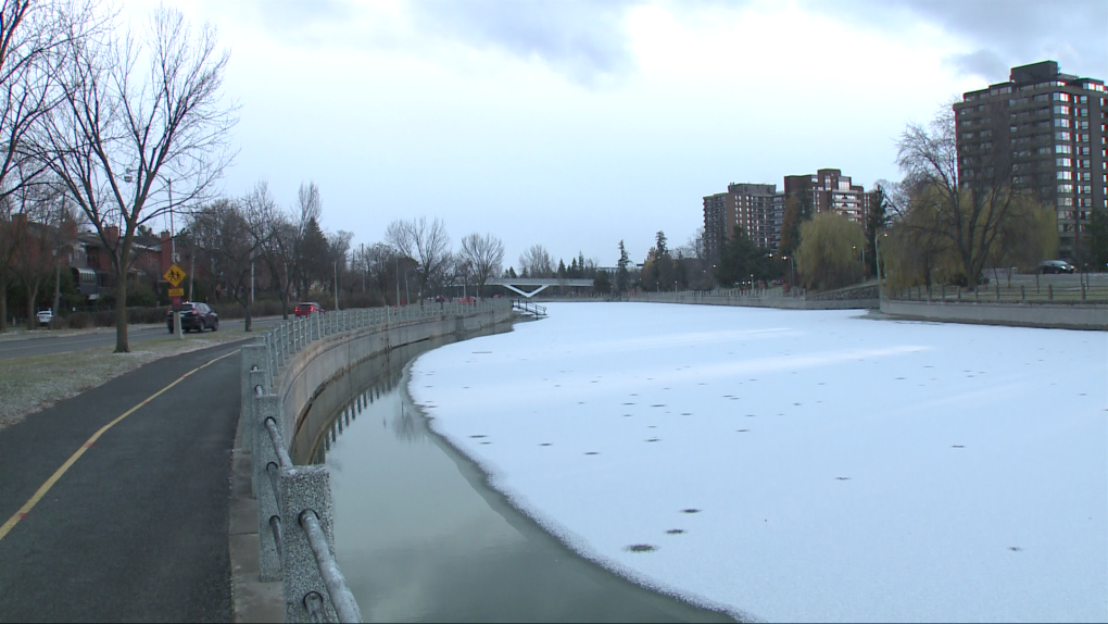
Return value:
M 312 413 L 308 408 L 328 383 L 357 364 L 404 345 L 478 331 L 512 318 L 511 307 L 504 306 L 464 316 L 443 314 L 373 325 L 310 342 L 288 362 L 274 383 L 274 392 L 284 408 L 286 443 L 291 447 L 294 440 L 314 438 L 319 428 L 326 427 L 326 422 L 306 418 Z M 322 415 L 324 410 L 316 413 Z

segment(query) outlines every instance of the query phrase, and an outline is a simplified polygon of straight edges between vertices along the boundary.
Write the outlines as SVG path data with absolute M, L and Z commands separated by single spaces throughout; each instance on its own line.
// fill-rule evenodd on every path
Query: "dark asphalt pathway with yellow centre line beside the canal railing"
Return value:
M 164 329 L 163 329 L 164 331 Z M 0 622 L 229 622 L 240 344 L 155 360 L 0 431 Z M 2 534 L 0 526 L 0 534 Z

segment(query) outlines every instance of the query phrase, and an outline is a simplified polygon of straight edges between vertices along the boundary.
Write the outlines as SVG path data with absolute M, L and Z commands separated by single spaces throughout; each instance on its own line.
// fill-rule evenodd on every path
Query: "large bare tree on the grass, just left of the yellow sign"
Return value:
M 194 37 L 164 6 L 142 42 L 130 33 L 74 35 L 64 51 L 62 101 L 43 117 L 39 156 L 109 253 L 115 352 L 126 352 L 126 277 L 138 225 L 202 204 L 230 160 L 235 108 L 219 95 L 229 57 L 217 50 L 212 27 Z

